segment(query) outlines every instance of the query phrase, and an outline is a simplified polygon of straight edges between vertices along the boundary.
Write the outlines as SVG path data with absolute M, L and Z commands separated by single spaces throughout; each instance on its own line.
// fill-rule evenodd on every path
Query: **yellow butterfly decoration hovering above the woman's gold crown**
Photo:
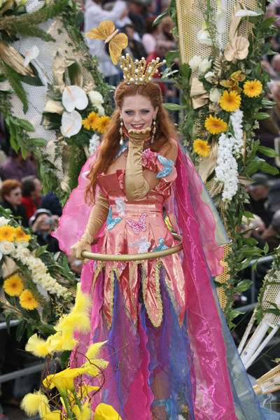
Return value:
M 118 29 L 111 20 L 104 20 L 99 27 L 91 29 L 85 36 L 92 39 L 104 39 L 105 43 L 109 43 L 109 52 L 113 64 L 118 63 L 118 59 L 122 53 L 123 48 L 127 47 L 127 36 L 125 34 L 118 34 Z

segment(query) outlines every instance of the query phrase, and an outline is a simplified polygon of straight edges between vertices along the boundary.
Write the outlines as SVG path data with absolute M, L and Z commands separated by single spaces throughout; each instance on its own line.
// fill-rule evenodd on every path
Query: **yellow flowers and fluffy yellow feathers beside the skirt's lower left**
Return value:
M 94 395 L 104 384 L 104 371 L 108 361 L 99 358 L 99 353 L 106 342 L 91 344 L 85 353 L 85 363 L 80 367 L 71 367 L 66 362 L 60 372 L 50 374 L 50 360 L 57 352 L 72 351 L 78 344 L 75 332 L 90 331 L 90 299 L 80 291 L 76 294 L 76 302 L 69 314 L 59 318 L 55 325 L 55 334 L 43 340 L 34 334 L 29 338 L 26 350 L 38 357 L 48 356 L 41 389 L 28 393 L 21 402 L 27 415 L 39 414 L 45 420 L 121 420 L 118 412 L 111 405 L 101 403 L 93 408 Z M 64 353 L 62 353 L 64 355 Z M 61 356 L 61 360 L 63 357 Z M 57 367 L 57 363 L 56 363 Z M 50 395 L 50 391 L 56 393 Z

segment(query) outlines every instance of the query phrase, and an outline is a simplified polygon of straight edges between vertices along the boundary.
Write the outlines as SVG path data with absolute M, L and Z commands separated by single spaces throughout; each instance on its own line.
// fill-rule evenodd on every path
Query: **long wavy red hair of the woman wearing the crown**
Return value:
M 106 173 L 120 149 L 120 109 L 123 107 L 125 97 L 135 96 L 136 94 L 141 94 L 150 99 L 153 108 L 158 106 L 155 140 L 153 144 L 149 145 L 151 151 L 159 152 L 162 146 L 171 146 L 171 138 L 175 137 L 176 130 L 169 114 L 162 106 L 162 92 L 159 85 L 153 82 L 146 85 L 120 83 L 114 95 L 116 111 L 113 113 L 111 123 L 99 147 L 98 159 L 90 167 L 90 174 L 87 176 L 89 182 L 85 189 L 85 202 L 94 202 L 97 176 L 102 172 Z

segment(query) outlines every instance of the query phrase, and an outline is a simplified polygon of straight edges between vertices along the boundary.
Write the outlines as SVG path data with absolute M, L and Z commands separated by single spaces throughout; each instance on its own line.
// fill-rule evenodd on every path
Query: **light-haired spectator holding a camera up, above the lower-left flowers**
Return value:
M 58 216 L 52 215 L 48 209 L 38 209 L 29 219 L 29 226 L 34 230 L 40 246 L 48 245 L 47 251 L 58 252 L 59 246 L 56 238 L 50 234 L 58 228 Z

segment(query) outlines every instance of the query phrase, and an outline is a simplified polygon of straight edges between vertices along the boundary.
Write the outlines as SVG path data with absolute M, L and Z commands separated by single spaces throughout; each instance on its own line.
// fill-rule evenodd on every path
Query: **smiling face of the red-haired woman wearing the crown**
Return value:
M 151 104 L 148 97 L 141 94 L 127 96 L 123 101 L 120 109 L 120 116 L 123 117 L 123 123 L 128 130 L 144 130 L 153 124 L 153 116 L 158 113 L 156 108 Z

